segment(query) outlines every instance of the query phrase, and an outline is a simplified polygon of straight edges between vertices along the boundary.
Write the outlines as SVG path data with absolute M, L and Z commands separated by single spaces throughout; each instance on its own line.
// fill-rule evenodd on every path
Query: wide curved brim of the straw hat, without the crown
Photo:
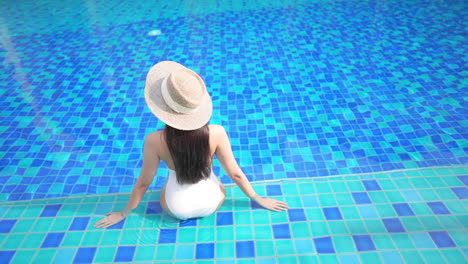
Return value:
M 154 65 L 146 76 L 145 100 L 151 112 L 163 123 L 180 130 L 195 130 L 207 124 L 213 113 L 213 102 L 208 92 L 197 110 L 189 114 L 173 111 L 161 94 L 163 79 L 181 69 L 186 67 L 173 61 L 162 61 Z

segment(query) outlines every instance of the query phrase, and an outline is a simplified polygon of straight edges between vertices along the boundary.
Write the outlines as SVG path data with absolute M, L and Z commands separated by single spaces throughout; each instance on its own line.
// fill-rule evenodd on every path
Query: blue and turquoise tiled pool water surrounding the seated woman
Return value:
M 0 263 L 466 262 L 466 10 L 0 0 Z M 143 97 L 162 60 L 200 73 L 211 123 L 290 211 L 257 210 L 215 162 L 229 202 L 173 223 L 157 207 L 163 165 L 137 214 L 92 228 L 128 199 L 145 136 L 163 127 Z

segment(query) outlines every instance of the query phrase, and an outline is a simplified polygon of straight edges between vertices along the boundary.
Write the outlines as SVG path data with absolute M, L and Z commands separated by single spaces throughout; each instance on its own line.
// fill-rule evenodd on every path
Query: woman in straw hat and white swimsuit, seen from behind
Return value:
M 176 62 L 160 62 L 148 72 L 145 99 L 166 127 L 147 136 L 140 176 L 125 209 L 107 214 L 95 227 L 114 225 L 138 206 L 161 160 L 169 168 L 161 191 L 161 207 L 180 220 L 213 214 L 226 196 L 212 171 L 214 155 L 249 198 L 269 210 L 288 209 L 285 202 L 263 198 L 255 192 L 234 159 L 224 128 L 208 125 L 213 104 L 198 74 Z

